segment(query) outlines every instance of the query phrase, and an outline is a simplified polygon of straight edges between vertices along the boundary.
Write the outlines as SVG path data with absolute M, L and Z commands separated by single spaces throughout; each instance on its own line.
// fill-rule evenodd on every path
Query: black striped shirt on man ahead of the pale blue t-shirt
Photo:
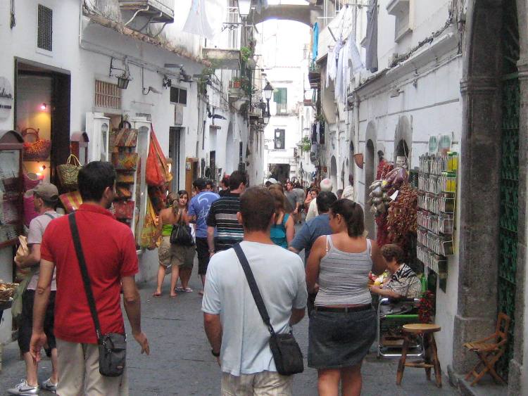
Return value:
M 237 212 L 240 212 L 240 194 L 230 193 L 211 205 L 207 225 L 216 228 L 215 252 L 227 250 L 244 238 L 244 228 L 237 220 Z

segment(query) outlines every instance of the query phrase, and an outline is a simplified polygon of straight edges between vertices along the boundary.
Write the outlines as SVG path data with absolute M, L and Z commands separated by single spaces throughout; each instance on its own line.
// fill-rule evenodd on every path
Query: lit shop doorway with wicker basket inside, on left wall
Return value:
M 56 166 L 70 155 L 70 75 L 46 65 L 15 60 L 15 129 L 32 143 L 27 172 L 61 188 Z

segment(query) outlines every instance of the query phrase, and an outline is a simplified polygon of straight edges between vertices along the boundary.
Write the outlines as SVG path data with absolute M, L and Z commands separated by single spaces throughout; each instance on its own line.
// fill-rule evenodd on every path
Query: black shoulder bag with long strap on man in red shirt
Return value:
M 82 253 L 81 241 L 79 238 L 79 230 L 75 222 L 75 212 L 68 215 L 70 222 L 70 230 L 73 237 L 73 245 L 75 245 L 75 253 L 77 253 L 77 261 L 81 269 L 82 281 L 84 283 L 84 291 L 94 319 L 95 331 L 97 335 L 97 343 L 99 344 L 99 373 L 101 376 L 118 377 L 122 375 L 125 369 L 125 362 L 127 357 L 127 338 L 123 334 L 108 333 L 101 334 L 101 326 L 99 324 L 99 316 L 95 307 L 94 293 L 92 293 L 92 286 L 90 285 L 90 278 L 88 276 L 88 269 L 84 261 L 84 253 Z

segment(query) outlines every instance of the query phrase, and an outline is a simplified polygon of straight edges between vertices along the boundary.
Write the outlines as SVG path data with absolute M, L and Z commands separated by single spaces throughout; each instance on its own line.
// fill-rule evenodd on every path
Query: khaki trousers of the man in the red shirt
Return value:
M 128 396 L 127 369 L 119 377 L 99 373 L 99 347 L 57 338 L 58 396 Z

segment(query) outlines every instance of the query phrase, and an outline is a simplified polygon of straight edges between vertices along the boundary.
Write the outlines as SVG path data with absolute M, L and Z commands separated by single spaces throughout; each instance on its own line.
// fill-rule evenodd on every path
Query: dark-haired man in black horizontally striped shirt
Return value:
M 231 248 L 244 238 L 244 229 L 237 220 L 237 213 L 240 212 L 240 194 L 246 189 L 246 184 L 246 173 L 234 171 L 230 176 L 230 193 L 215 200 L 210 207 L 207 242 L 211 256 Z

